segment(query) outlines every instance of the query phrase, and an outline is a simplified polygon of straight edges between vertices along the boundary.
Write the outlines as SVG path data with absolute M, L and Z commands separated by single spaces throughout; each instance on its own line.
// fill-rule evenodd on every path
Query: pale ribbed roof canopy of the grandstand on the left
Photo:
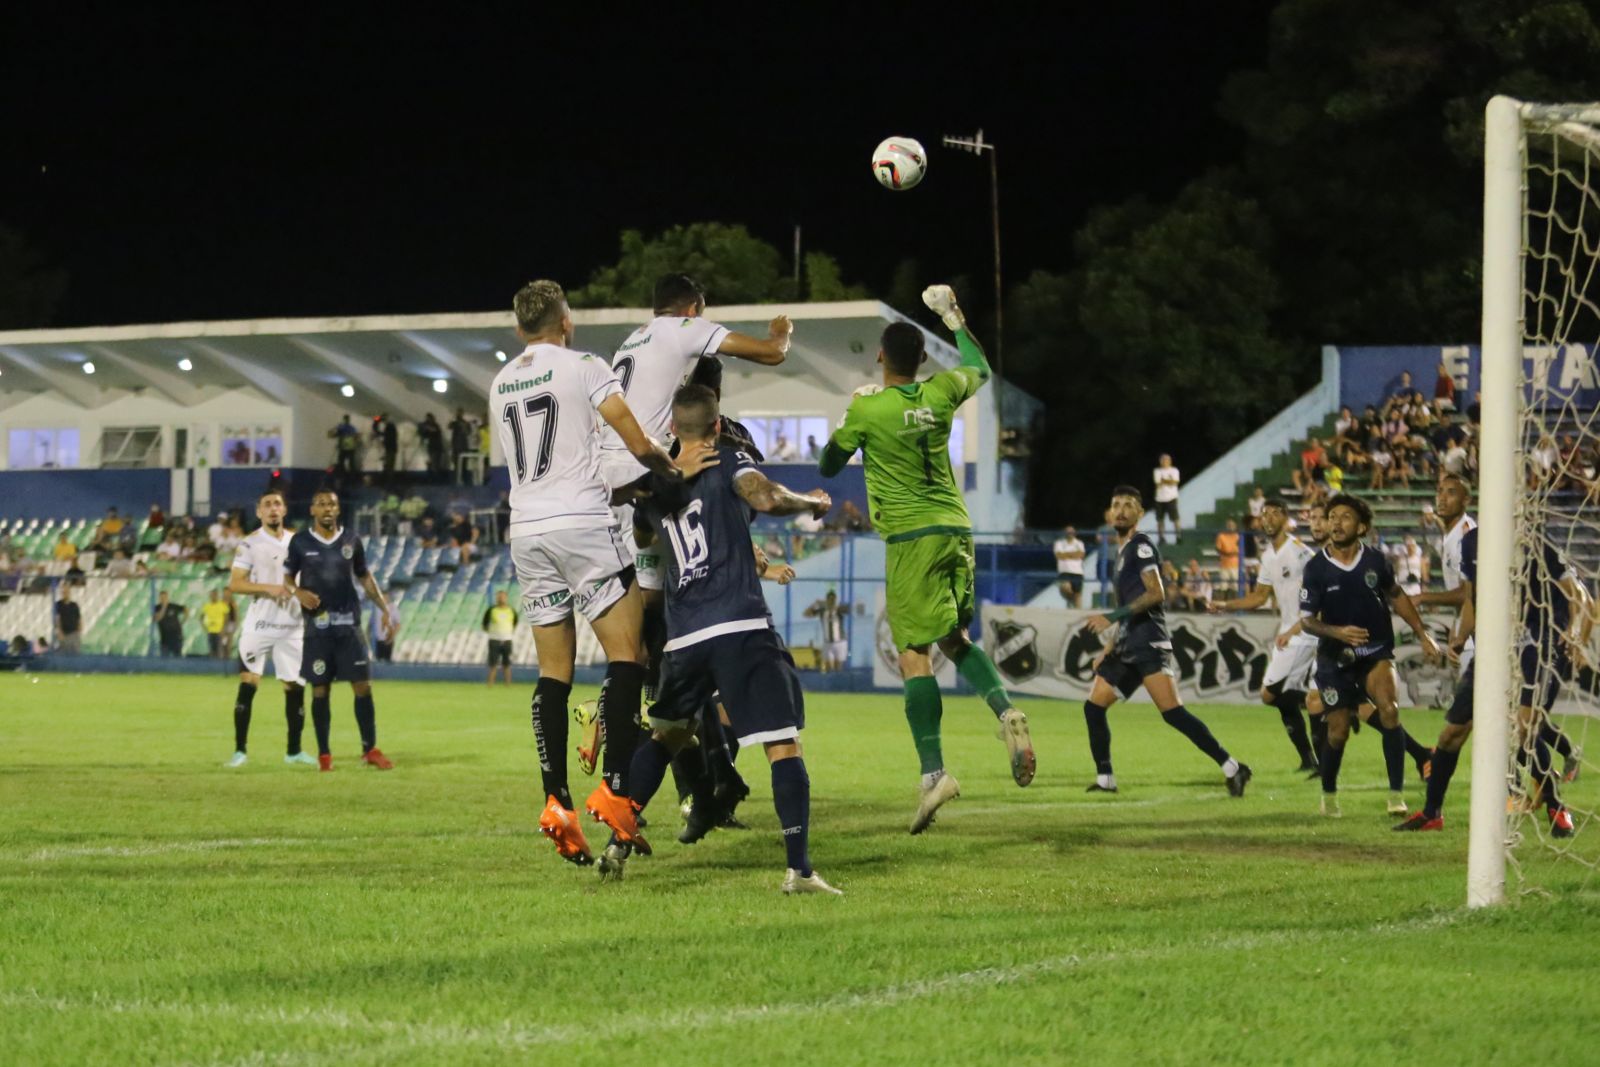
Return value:
M 795 323 L 794 349 L 782 366 L 758 373 L 803 378 L 811 389 L 840 395 L 877 379 L 878 334 L 890 322 L 909 322 L 878 301 L 709 312 L 755 336 L 766 336 L 766 323 L 779 314 Z M 650 317 L 638 307 L 574 310 L 574 347 L 610 357 Z M 958 362 L 949 342 L 926 338 L 931 360 Z M 40 392 L 96 408 L 122 390 L 154 390 L 192 405 L 213 389 L 254 387 L 286 403 L 309 392 L 346 411 L 414 419 L 445 405 L 483 406 L 501 366 L 496 354 L 520 350 L 509 310 L 11 331 L 0 333 L 0 408 Z M 93 374 L 85 373 L 90 363 Z M 446 395 L 437 381 L 448 382 Z M 342 386 L 355 395 L 341 397 Z M 738 382 L 730 379 L 726 392 L 736 395 Z

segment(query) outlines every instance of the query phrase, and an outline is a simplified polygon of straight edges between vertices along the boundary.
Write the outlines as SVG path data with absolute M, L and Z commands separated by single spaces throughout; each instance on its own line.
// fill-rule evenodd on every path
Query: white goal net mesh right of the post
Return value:
M 1600 713 L 1587 605 L 1600 573 L 1600 130 L 1528 118 L 1523 152 L 1523 373 L 1518 434 L 1507 864 L 1517 889 L 1600 869 Z M 1597 627 L 1600 630 L 1600 627 Z M 1504 712 L 1501 712 L 1504 713 Z M 1597 734 L 1600 741 L 1600 734 Z M 1595 750 L 1600 755 L 1600 750 Z M 1554 806 L 1560 805 L 1560 808 Z M 1565 809 L 1574 833 L 1563 837 Z

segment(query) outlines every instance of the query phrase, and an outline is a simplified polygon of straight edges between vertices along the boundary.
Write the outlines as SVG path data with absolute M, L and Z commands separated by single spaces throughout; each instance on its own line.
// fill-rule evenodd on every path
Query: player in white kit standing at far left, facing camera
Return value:
M 283 683 L 283 718 L 288 720 L 288 753 L 285 763 L 317 766 L 317 758 L 301 750 L 301 734 L 306 731 L 306 683 L 301 678 L 301 608 L 283 587 L 283 557 L 290 550 L 293 530 L 283 528 L 288 504 L 277 490 L 267 490 L 256 501 L 256 518 L 261 526 L 245 537 L 234 553 L 234 573 L 227 592 L 254 597 L 245 611 L 245 624 L 238 635 L 238 696 L 234 699 L 234 758 L 227 766 L 245 765 L 245 744 L 250 739 L 250 710 L 256 701 L 256 686 L 266 673 L 267 659 L 272 673 Z

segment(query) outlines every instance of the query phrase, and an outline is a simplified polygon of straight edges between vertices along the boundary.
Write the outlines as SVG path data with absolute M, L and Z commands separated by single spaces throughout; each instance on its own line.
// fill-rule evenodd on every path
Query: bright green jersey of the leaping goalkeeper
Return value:
M 885 541 L 971 531 L 950 469 L 950 421 L 987 378 L 987 366 L 963 363 L 926 381 L 856 390 L 829 443 L 846 456 L 861 450 L 872 525 Z

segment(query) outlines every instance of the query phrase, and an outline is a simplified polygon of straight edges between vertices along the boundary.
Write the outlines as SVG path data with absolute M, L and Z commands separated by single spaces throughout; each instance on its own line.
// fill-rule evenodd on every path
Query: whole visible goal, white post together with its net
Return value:
M 1474 905 L 1600 869 L 1600 104 L 1490 102 L 1483 224 Z

